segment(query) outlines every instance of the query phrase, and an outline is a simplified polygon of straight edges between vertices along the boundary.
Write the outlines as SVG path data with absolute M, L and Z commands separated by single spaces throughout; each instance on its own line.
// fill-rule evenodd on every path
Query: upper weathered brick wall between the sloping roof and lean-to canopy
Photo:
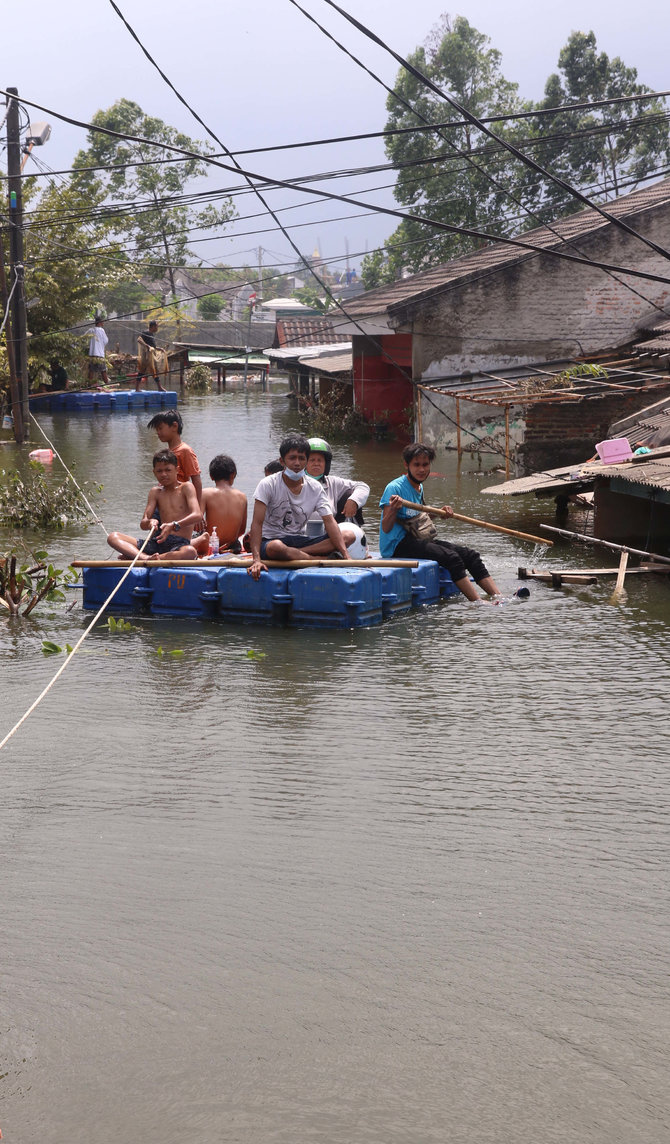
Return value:
M 670 204 L 627 222 L 670 246 Z M 668 277 L 668 260 L 612 224 L 566 246 L 568 253 Z M 535 362 L 584 357 L 624 345 L 668 308 L 670 287 L 531 255 L 495 272 L 447 284 L 431 297 L 392 308 L 414 341 L 415 379 L 454 376 Z M 627 288 L 632 286 L 636 293 Z M 641 295 L 641 296 L 640 296 Z

